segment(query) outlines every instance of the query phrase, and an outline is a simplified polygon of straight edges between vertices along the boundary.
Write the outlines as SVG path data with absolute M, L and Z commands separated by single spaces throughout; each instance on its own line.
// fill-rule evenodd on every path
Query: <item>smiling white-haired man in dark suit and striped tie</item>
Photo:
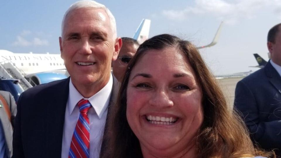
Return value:
M 99 157 L 114 102 L 111 62 L 122 41 L 104 5 L 84 0 L 65 13 L 59 37 L 70 78 L 22 93 L 13 135 L 13 157 Z

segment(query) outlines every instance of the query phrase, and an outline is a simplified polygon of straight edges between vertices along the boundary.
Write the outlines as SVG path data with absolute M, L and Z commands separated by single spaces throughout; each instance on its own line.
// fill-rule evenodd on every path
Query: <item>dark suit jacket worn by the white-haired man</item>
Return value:
M 20 95 L 13 135 L 13 157 L 61 157 L 69 80 L 38 85 Z M 112 94 L 109 107 L 114 104 L 115 98 Z M 107 123 L 104 130 L 106 128 Z M 105 141 L 102 142 L 101 152 Z

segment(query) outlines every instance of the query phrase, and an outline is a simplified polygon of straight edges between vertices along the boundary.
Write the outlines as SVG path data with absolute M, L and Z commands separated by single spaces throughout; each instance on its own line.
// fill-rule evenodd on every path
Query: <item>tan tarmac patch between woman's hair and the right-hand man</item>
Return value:
M 235 94 L 235 87 L 238 81 L 242 80 L 243 77 L 237 77 L 237 78 L 223 78 L 223 79 L 217 79 L 224 95 L 227 100 L 227 104 L 229 105 L 229 108 L 233 108 L 234 103 L 234 94 Z

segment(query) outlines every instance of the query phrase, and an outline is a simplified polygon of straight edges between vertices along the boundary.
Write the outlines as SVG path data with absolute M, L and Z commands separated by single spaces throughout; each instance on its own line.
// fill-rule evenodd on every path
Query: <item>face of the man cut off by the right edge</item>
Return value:
M 278 28 L 278 32 L 275 37 L 275 42 L 267 43 L 268 51 L 270 53 L 270 59 L 281 66 L 281 26 Z

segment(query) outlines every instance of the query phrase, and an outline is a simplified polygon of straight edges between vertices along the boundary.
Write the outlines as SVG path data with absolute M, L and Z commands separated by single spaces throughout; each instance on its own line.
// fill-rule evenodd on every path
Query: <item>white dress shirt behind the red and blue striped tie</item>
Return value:
M 82 98 L 88 99 L 93 108 L 88 111 L 90 119 L 90 158 L 97 158 L 100 155 L 102 136 L 107 116 L 107 107 L 112 92 L 113 79 L 110 75 L 109 82 L 99 92 L 90 98 L 84 98 L 74 87 L 71 78 L 69 82 L 69 95 L 66 103 L 64 117 L 64 131 L 62 137 L 61 157 L 68 158 L 72 135 L 78 121 L 80 111 L 76 106 Z

